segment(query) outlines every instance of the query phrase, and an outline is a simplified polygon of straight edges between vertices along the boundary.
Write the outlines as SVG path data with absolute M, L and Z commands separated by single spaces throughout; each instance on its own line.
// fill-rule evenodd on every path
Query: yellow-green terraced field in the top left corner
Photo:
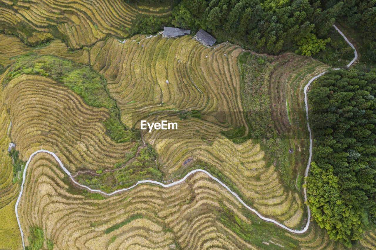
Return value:
M 64 38 L 70 48 L 92 45 L 107 35 L 126 37 L 139 14 L 163 16 L 168 7 L 130 6 L 117 0 L 2 1 L 0 27 L 31 45 L 53 37 Z

